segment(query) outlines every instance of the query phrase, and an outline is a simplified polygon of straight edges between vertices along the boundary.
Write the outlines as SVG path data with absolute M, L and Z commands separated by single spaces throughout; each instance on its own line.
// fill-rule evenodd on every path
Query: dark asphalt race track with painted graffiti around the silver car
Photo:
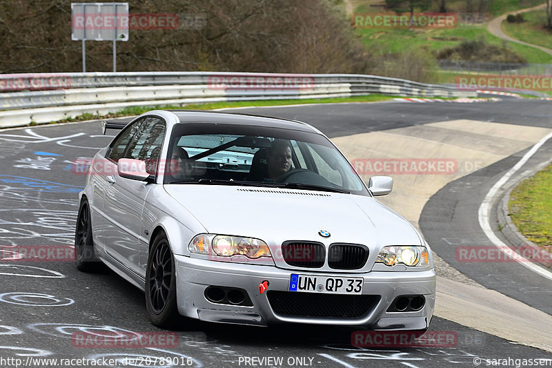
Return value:
M 552 128 L 551 111 L 552 101 L 537 99 L 474 104 L 389 101 L 237 110 L 300 119 L 331 138 L 454 119 Z M 99 122 L 0 130 L 0 367 L 14 367 L 15 359 L 21 360 L 20 366 L 30 362 L 28 367 L 55 367 L 39 364 L 35 360 L 39 358 L 118 360 L 118 365 L 103 367 L 123 367 L 129 362 L 126 357 L 134 357 L 137 359 L 126 367 L 349 368 L 474 367 L 474 362 L 486 366 L 485 359 L 493 358 L 552 358 L 549 352 L 514 345 L 437 317 L 430 329 L 455 333 L 455 346 L 363 349 L 351 345 L 355 329 L 303 325 L 259 328 L 181 320 L 170 331 L 177 335 L 177 347 L 79 347 L 71 338 L 79 331 L 99 335 L 165 331 L 148 322 L 144 294 L 108 269 L 81 273 L 63 257 L 59 262 L 4 258 L 10 246 L 70 249 L 77 193 L 85 182 L 84 173 L 75 170 L 72 162 L 92 157 L 110 139 L 101 135 Z M 551 153 L 552 144 L 545 144 L 528 167 L 550 159 Z M 436 253 L 464 275 L 552 314 L 549 280 L 517 264 L 457 262 L 451 242 L 446 241 L 475 238 L 486 244 L 477 223 L 477 209 L 489 188 L 523 154 L 516 153 L 444 186 L 426 203 L 420 228 Z M 535 331 L 535 340 L 538 334 Z M 172 360 L 165 365 L 158 360 L 156 365 L 155 357 Z M 259 360 L 246 360 L 253 357 Z M 278 358 L 282 362 L 275 364 Z

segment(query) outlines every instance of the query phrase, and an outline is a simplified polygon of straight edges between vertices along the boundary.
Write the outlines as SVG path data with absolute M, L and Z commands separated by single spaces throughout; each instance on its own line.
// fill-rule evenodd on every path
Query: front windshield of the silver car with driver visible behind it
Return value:
M 369 195 L 324 136 L 233 124 L 177 124 L 164 184 L 242 184 Z

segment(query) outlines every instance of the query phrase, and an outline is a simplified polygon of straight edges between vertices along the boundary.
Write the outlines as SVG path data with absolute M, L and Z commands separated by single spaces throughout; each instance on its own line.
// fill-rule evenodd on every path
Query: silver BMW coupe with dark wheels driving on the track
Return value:
M 152 110 L 90 162 L 76 265 L 99 261 L 145 291 L 154 325 L 178 315 L 246 325 L 424 330 L 433 256 L 375 200 L 337 147 L 303 122 Z

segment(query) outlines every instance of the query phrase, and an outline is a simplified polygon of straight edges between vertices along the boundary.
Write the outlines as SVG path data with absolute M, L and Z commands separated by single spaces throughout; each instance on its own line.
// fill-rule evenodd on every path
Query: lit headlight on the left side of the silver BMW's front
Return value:
M 230 235 L 199 234 L 188 245 L 192 253 L 221 255 L 245 255 L 250 259 L 272 258 L 268 245 L 260 239 Z

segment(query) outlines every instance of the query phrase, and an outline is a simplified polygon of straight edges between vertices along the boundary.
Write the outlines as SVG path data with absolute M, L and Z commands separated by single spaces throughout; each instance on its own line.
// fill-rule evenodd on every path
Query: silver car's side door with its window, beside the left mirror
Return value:
M 139 131 L 128 143 L 123 157 L 146 161 L 148 171 L 155 175 L 164 134 L 164 120 L 153 116 L 145 117 Z M 112 164 L 117 165 L 115 160 Z M 124 269 L 142 277 L 145 275 L 142 275 L 139 267 L 140 253 L 148 251 L 147 239 L 141 234 L 142 215 L 146 195 L 154 185 L 151 182 L 121 177 L 115 167 L 103 206 L 108 218 L 104 231 L 106 253 L 115 258 Z

